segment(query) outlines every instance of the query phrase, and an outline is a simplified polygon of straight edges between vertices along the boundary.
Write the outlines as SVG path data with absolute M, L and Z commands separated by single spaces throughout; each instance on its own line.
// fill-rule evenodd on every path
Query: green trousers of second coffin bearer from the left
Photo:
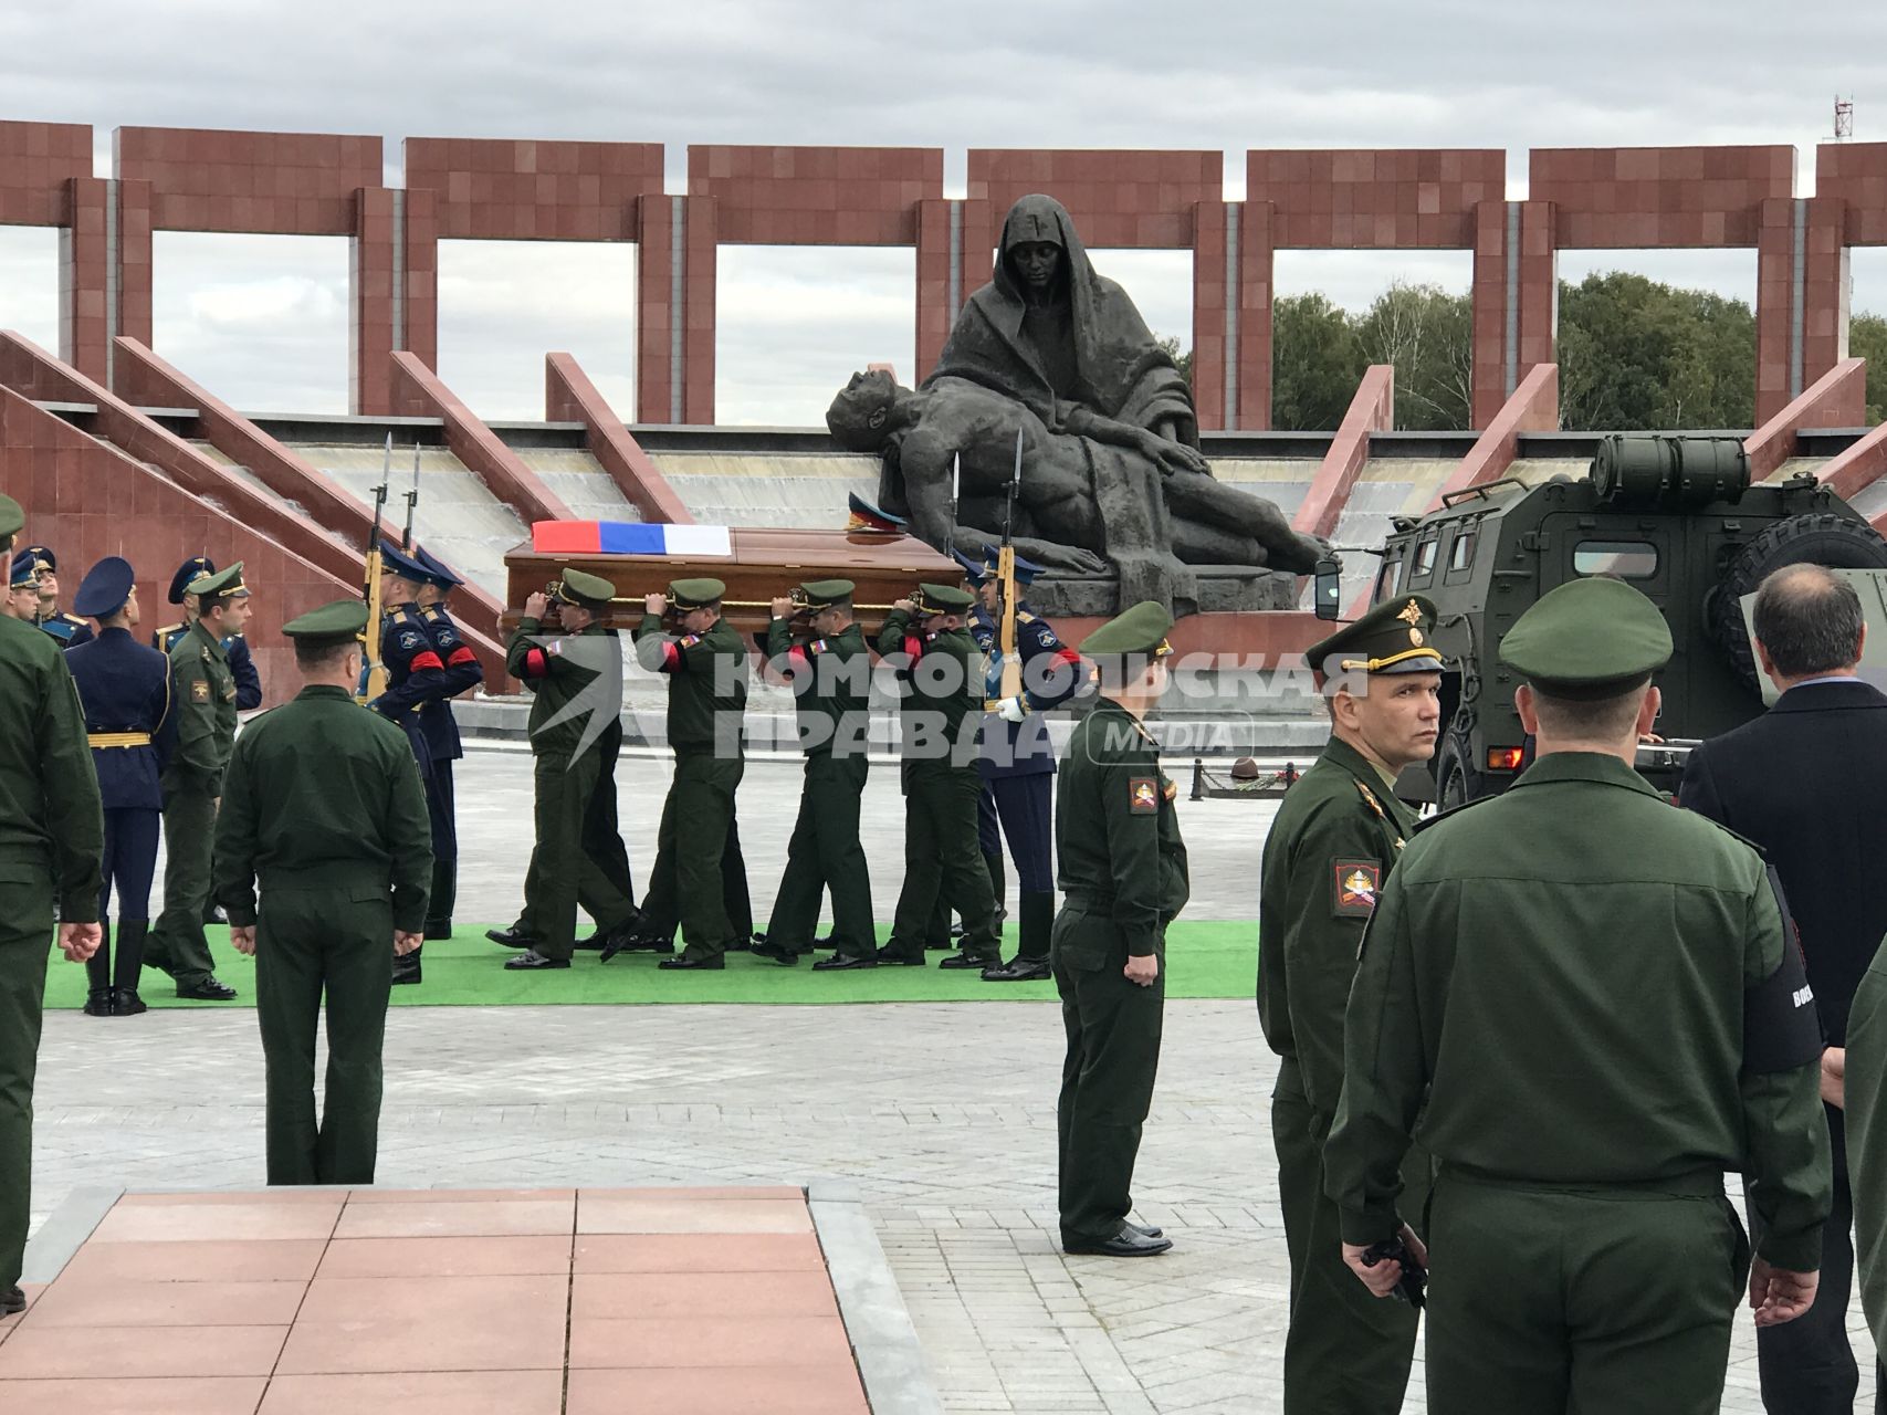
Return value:
M 676 753 L 676 777 L 662 802 L 655 868 L 642 911 L 651 919 L 681 921 L 685 958 L 719 958 L 734 941 L 721 857 L 745 766 L 740 757 L 715 757 L 711 751 Z

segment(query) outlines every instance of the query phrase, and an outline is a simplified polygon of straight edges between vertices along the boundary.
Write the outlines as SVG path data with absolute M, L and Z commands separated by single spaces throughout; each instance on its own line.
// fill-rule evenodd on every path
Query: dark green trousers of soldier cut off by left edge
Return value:
M 51 938 L 51 875 L 0 866 L 0 1289 L 19 1281 L 26 1253 L 32 1077 L 40 1066 L 40 1006 Z

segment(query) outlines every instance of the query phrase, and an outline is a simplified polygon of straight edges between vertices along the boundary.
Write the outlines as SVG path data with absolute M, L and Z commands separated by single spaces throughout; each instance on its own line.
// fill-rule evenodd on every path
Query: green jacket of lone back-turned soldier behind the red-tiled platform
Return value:
M 432 887 L 432 826 L 406 732 L 311 685 L 262 713 L 230 755 L 217 813 L 217 892 L 232 924 L 255 923 L 255 885 L 392 896 L 392 926 L 417 934 Z M 355 891 L 360 891 L 359 894 Z

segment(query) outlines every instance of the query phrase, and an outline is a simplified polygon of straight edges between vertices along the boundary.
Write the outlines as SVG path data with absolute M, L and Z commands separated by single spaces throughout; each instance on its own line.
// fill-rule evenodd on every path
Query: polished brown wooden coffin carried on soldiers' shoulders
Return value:
M 962 585 L 962 568 L 921 540 L 870 530 L 793 530 L 734 526 L 734 553 L 693 555 L 545 555 L 530 543 L 506 553 L 509 575 L 504 632 L 517 628 L 525 596 L 560 579 L 566 570 L 587 570 L 615 585 L 613 623 L 630 628 L 642 619 L 642 600 L 668 589 L 672 579 L 713 575 L 726 583 L 726 619 L 743 634 L 766 628 L 774 596 L 808 579 L 849 579 L 853 604 L 864 621 L 883 619 L 893 600 L 902 600 L 919 581 Z

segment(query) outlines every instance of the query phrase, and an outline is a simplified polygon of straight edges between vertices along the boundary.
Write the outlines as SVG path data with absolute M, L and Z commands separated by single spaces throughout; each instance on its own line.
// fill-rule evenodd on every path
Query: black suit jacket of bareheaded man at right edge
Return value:
M 1781 875 L 1829 1045 L 1887 936 L 1887 696 L 1804 683 L 1695 747 L 1678 804 L 1753 840 Z

